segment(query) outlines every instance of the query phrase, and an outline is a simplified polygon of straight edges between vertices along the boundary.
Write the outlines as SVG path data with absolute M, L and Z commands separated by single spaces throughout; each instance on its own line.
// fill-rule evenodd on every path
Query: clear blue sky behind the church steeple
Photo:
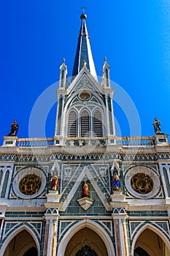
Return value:
M 72 75 L 81 6 L 87 7 L 86 23 L 97 74 L 101 75 L 107 56 L 111 80 L 128 93 L 139 113 L 139 135 L 154 135 L 155 117 L 161 120 L 162 132 L 169 134 L 169 0 L 9 0 L 2 1 L 0 8 L 1 143 L 14 118 L 20 125 L 18 137 L 28 138 L 34 103 L 58 81 L 63 57 L 68 75 Z M 47 117 L 47 137 L 54 135 L 55 110 L 56 105 Z M 114 111 L 120 127 L 117 135 L 138 135 L 131 134 L 128 118 L 116 102 Z M 42 113 L 40 109 L 39 115 Z M 39 136 L 37 132 L 35 136 Z

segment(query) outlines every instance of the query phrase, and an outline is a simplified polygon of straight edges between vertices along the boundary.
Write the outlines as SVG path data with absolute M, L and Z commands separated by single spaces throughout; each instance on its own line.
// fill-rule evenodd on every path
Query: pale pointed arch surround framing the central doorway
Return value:
M 61 243 L 58 246 L 58 253 L 57 256 L 63 256 L 64 252 L 66 250 L 67 244 L 69 244 L 70 239 L 82 228 L 89 227 L 96 233 L 98 233 L 98 236 L 101 237 L 101 239 L 104 241 L 104 244 L 107 248 L 108 256 L 115 256 L 115 249 L 112 244 L 112 240 L 109 238 L 109 235 L 107 232 L 99 226 L 96 222 L 93 222 L 90 219 L 83 219 L 80 222 L 77 222 L 75 225 L 73 225 L 69 230 L 65 233 L 63 236 Z

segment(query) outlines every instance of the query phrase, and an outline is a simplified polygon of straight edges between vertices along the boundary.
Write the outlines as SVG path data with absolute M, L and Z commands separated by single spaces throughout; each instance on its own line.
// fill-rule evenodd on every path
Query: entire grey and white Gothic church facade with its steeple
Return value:
M 109 64 L 98 83 L 86 15 L 53 138 L 4 137 L 0 255 L 169 256 L 170 145 L 117 137 Z

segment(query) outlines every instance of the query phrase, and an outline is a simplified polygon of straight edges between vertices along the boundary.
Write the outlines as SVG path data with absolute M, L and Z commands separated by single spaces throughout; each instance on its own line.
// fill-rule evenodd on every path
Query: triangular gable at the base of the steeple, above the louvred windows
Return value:
M 97 83 L 95 78 L 93 78 L 93 75 L 90 74 L 88 69 L 83 67 L 77 77 L 74 78 L 69 88 L 66 90 L 66 94 L 70 94 L 72 91 L 80 91 L 85 89 L 90 91 L 98 91 L 102 94 L 101 86 Z

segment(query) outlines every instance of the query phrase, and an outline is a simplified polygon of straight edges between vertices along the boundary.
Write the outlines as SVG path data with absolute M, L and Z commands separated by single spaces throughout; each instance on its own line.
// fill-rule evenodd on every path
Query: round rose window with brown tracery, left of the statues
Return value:
M 19 183 L 20 192 L 24 195 L 34 195 L 42 186 L 42 180 L 35 174 L 24 176 Z

